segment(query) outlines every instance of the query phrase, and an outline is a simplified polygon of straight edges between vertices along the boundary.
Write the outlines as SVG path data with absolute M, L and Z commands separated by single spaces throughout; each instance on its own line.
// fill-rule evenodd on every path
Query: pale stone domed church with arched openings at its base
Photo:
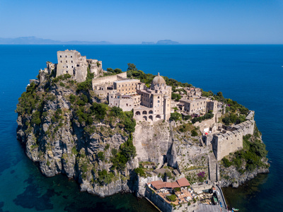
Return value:
M 150 88 L 144 86 L 137 90 L 141 95 L 140 106 L 134 107 L 134 119 L 137 121 L 168 120 L 171 116 L 171 86 L 167 86 L 162 76 L 156 76 Z

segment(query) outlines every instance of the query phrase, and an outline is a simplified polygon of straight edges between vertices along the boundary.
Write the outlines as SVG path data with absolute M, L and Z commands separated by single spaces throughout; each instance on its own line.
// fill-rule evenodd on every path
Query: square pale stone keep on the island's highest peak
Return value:
M 74 76 L 78 82 L 86 80 L 87 69 L 94 73 L 94 76 L 100 76 L 103 74 L 102 61 L 96 59 L 86 59 L 86 56 L 76 50 L 65 50 L 57 52 L 57 73 L 56 76 L 60 76 L 69 73 Z

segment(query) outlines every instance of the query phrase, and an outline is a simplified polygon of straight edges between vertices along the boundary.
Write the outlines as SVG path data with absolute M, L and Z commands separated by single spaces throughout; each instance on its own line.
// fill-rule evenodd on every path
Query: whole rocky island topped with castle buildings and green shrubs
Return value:
M 145 196 L 161 211 L 202 211 L 223 201 L 218 186 L 268 172 L 255 112 L 221 92 L 134 64 L 104 71 L 75 50 L 57 59 L 16 109 L 17 138 L 43 175 L 67 175 L 102 197 Z

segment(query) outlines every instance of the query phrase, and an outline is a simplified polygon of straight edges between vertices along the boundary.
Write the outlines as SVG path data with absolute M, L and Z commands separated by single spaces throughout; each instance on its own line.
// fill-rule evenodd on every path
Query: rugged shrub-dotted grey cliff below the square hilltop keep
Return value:
M 31 84 L 19 99 L 17 138 L 47 177 L 59 173 L 74 177 L 82 191 L 99 196 L 131 192 L 134 188 L 129 180 L 137 161 L 132 152 L 125 151 L 132 141 L 122 122 L 133 124 L 134 120 L 123 113 L 122 118 L 112 115 L 109 120 L 107 114 L 112 111 L 106 105 L 105 110 L 96 108 L 105 117 L 92 114 L 92 107 L 100 105 L 97 101 L 90 93 L 78 92 L 69 78 L 56 82 L 46 76 L 39 86 Z M 123 151 L 129 153 L 128 158 L 126 154 L 122 158 Z M 119 164 L 122 160 L 122 167 L 115 167 L 113 160 Z

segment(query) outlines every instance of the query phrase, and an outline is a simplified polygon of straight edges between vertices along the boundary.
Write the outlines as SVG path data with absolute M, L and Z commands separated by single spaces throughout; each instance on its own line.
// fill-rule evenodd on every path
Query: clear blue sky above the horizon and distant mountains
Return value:
M 0 0 L 0 37 L 283 44 L 283 0 Z

